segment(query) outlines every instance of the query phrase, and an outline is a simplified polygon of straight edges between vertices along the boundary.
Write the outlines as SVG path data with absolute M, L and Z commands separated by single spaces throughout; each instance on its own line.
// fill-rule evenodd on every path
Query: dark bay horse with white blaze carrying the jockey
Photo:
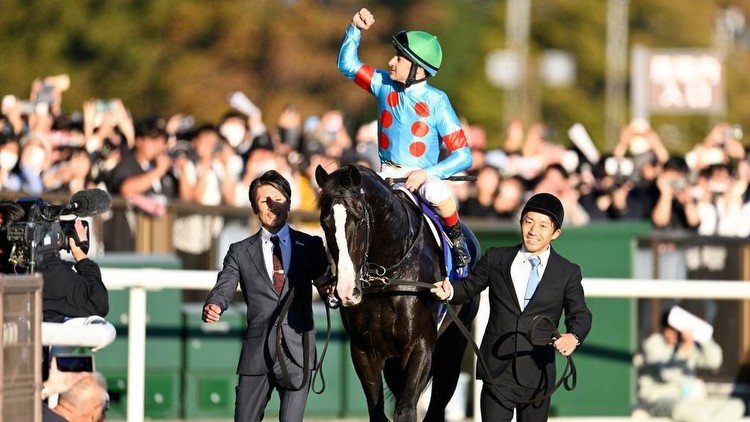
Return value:
M 371 421 L 387 421 L 382 379 L 395 399 L 394 421 L 417 419 L 417 400 L 432 379 L 425 420 L 443 421 L 456 387 L 466 339 L 424 284 L 445 277 L 442 251 L 422 211 L 372 170 L 347 166 L 315 178 L 320 223 L 335 265 L 341 318 Z M 476 238 L 470 247 L 479 252 Z M 411 284 L 410 284 L 411 283 Z M 463 305 L 469 326 L 479 300 Z M 382 377 L 381 377 L 382 373 Z

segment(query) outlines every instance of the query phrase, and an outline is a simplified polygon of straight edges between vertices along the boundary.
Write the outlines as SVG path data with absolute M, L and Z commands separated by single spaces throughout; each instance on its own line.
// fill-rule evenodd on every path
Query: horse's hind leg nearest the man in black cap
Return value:
M 458 313 L 459 319 L 468 330 L 471 330 L 471 322 L 478 309 L 479 299 L 475 298 L 464 304 Z M 467 342 L 466 337 L 453 323 L 438 338 L 433 354 L 432 394 L 425 421 L 445 421 L 445 407 L 456 390 Z

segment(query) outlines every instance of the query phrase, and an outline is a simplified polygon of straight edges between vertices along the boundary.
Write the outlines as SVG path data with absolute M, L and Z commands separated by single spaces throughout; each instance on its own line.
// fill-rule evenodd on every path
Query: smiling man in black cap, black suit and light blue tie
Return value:
M 480 346 L 487 367 L 477 366 L 477 378 L 485 382 L 484 420 L 510 421 L 514 409 L 521 422 L 547 420 L 549 398 L 527 402 L 554 388 L 555 349 L 570 356 L 591 330 L 581 269 L 550 246 L 562 233 L 563 217 L 557 197 L 532 196 L 521 212 L 521 244 L 488 249 L 467 278 L 454 284 L 444 280 L 432 289 L 440 300 L 455 304 L 490 289 L 490 317 Z M 557 326 L 563 310 L 567 332 L 549 346 L 532 345 L 528 331 L 535 317 L 548 317 Z

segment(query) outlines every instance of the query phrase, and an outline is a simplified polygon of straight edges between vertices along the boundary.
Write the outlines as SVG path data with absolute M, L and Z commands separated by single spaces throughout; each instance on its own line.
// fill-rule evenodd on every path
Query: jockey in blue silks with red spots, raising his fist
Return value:
M 422 31 L 401 31 L 392 38 L 396 55 L 390 73 L 359 60 L 362 30 L 375 19 L 360 10 L 346 29 L 338 68 L 347 78 L 375 96 L 378 102 L 380 176 L 405 177 L 405 186 L 429 203 L 442 219 L 452 245 L 456 268 L 466 268 L 470 256 L 461 233 L 458 207 L 442 180 L 471 166 L 471 151 L 448 96 L 429 84 L 443 59 L 437 38 Z M 450 153 L 438 161 L 440 148 Z

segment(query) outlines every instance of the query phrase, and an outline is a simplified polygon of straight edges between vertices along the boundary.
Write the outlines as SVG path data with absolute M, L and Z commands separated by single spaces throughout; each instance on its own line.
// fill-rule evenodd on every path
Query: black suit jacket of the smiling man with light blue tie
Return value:
M 517 385 L 546 390 L 555 383 L 555 349 L 533 346 L 528 330 L 537 315 L 557 323 L 565 310 L 568 333 L 583 342 L 591 329 L 591 311 L 586 307 L 581 286 L 581 269 L 553 250 L 539 286 L 528 306 L 518 305 L 510 266 L 521 245 L 490 248 L 468 278 L 454 284 L 452 303 L 464 303 L 489 287 L 490 317 L 480 346 L 487 363 L 486 373 L 477 366 L 477 378 L 495 380 L 504 371 L 513 371 Z M 508 374 L 503 379 L 509 379 Z

